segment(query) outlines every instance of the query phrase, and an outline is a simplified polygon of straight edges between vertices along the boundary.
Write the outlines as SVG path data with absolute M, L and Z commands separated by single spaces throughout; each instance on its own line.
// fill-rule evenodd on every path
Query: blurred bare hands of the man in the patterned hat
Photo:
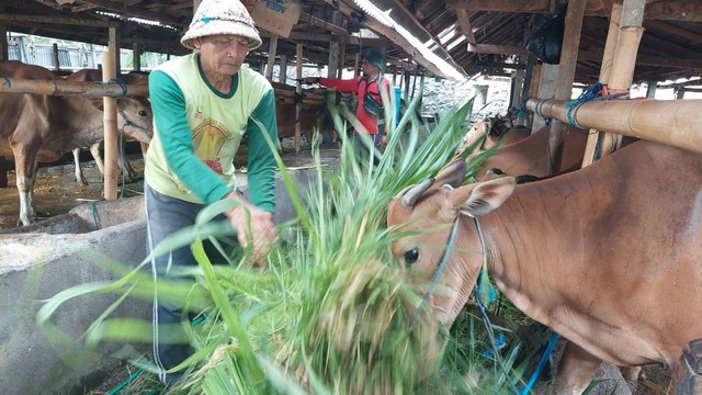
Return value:
M 247 262 L 250 264 L 258 263 L 265 268 L 265 261 L 262 258 L 268 253 L 271 246 L 278 241 L 273 213 L 248 204 L 235 194 L 229 194 L 227 198 L 244 203 L 244 205 L 225 212 L 225 215 L 229 218 L 231 227 L 237 230 L 239 245 L 241 247 L 252 247 L 252 252 Z

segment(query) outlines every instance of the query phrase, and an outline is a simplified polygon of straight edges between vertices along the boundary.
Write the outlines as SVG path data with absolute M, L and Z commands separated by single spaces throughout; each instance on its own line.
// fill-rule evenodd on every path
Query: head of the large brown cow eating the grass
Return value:
M 434 182 L 426 181 L 400 193 L 389 205 L 387 225 L 394 234 L 405 234 L 390 245 L 393 257 L 412 276 L 430 283 L 451 237 L 456 236 L 445 267 L 429 295 L 434 316 L 450 326 L 467 302 L 483 264 L 482 246 L 472 217 L 500 206 L 514 190 L 514 178 L 494 174 L 488 181 L 462 185 L 465 161 L 445 167 Z

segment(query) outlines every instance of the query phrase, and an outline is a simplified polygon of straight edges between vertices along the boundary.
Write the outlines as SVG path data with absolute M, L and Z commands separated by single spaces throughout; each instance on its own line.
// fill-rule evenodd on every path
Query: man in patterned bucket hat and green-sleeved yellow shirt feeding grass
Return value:
M 241 2 L 204 0 L 181 44 L 196 52 L 162 64 L 149 76 L 154 140 L 144 172 L 148 252 L 192 226 L 207 204 L 228 199 L 240 205 L 218 219 L 229 221 L 238 245 L 252 251 L 249 261 L 260 262 L 278 239 L 275 148 L 265 137 L 278 140 L 275 98 L 265 78 L 244 66 L 244 60 L 261 38 Z M 237 188 L 233 165 L 245 135 L 250 202 Z M 224 261 L 211 244 L 206 251 L 214 263 Z M 155 283 L 178 280 L 174 268 L 196 264 L 190 247 L 156 257 L 151 261 Z M 188 317 L 181 304 L 162 296 L 159 301 L 155 291 L 154 359 L 160 381 L 169 385 L 182 373 L 167 371 L 193 350 L 188 343 L 166 340 L 183 335 L 181 320 Z

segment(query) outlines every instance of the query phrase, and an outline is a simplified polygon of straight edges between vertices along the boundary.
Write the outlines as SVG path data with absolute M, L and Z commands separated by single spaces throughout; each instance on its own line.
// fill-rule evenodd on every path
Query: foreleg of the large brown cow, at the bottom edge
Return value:
M 579 346 L 567 341 L 558 364 L 558 375 L 551 384 L 550 395 L 580 395 L 597 374 L 602 361 Z

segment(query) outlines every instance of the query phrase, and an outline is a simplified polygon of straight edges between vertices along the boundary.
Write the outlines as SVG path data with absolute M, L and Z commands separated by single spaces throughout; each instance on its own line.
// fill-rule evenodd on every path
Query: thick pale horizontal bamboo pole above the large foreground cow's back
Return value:
M 529 99 L 526 108 L 537 115 L 567 121 L 565 100 Z M 570 110 L 576 123 L 702 153 L 698 116 L 702 99 L 589 101 Z

